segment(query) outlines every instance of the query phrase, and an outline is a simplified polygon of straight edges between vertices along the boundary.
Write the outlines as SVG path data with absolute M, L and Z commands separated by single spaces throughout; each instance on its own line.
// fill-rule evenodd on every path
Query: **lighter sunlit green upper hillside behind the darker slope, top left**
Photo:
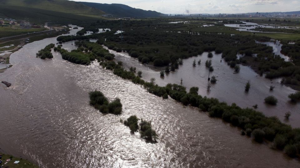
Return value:
M 49 11 L 73 13 L 73 14 L 89 14 L 103 15 L 105 12 L 83 5 L 74 1 L 67 0 L 0 0 L 2 6 L 18 6 L 43 9 Z

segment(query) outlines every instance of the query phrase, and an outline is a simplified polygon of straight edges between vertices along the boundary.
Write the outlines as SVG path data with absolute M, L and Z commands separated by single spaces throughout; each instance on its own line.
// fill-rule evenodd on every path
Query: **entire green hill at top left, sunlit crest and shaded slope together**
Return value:
M 0 0 L 0 16 L 32 21 L 90 21 L 105 12 L 68 0 Z

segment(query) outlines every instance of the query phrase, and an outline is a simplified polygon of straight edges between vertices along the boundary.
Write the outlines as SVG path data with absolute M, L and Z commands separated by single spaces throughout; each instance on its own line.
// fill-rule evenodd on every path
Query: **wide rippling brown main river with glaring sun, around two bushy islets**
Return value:
M 26 44 L 11 55 L 12 68 L 0 74 L 0 80 L 12 83 L 9 88 L 0 85 L 2 152 L 22 156 L 40 167 L 300 165 L 298 159 L 241 136 L 238 128 L 221 119 L 149 94 L 97 62 L 77 65 L 57 52 L 53 59 L 36 58 L 36 52 L 50 43 L 57 43 L 56 38 Z M 63 43 L 63 48 L 73 47 Z M 104 115 L 91 107 L 88 92 L 95 89 L 109 100 L 119 97 L 123 113 Z M 151 120 L 158 143 L 146 143 L 139 133 L 130 134 L 120 123 L 130 115 Z

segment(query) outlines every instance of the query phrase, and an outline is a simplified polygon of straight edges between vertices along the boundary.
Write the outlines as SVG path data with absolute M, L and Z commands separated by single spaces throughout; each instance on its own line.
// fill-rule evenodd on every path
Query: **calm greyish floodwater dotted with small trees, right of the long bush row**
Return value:
M 187 91 L 193 87 L 199 87 L 199 95 L 214 97 L 220 101 L 228 104 L 236 103 L 240 107 L 252 108 L 253 105 L 258 105 L 257 110 L 263 112 L 267 116 L 277 116 L 282 122 L 292 125 L 293 127 L 300 127 L 300 104 L 294 104 L 289 101 L 288 95 L 296 91 L 290 87 L 284 86 L 280 83 L 281 78 L 267 79 L 260 77 L 250 67 L 240 65 L 240 72 L 235 73 L 233 68 L 230 68 L 227 63 L 221 58 L 222 54 L 214 54 L 212 58 L 207 57 L 207 52 L 197 57 L 191 57 L 183 60 L 183 65 L 179 65 L 179 69 L 175 72 L 165 74 L 164 78 L 160 77 L 160 71 L 164 68 L 156 68 L 153 66 L 143 65 L 138 63 L 136 58 L 131 58 L 127 53 L 117 53 L 110 50 L 116 55 L 116 60 L 123 61 L 123 65 L 128 69 L 136 67 L 137 72 L 142 71 L 142 77 L 146 81 L 151 78 L 156 79 L 159 86 L 166 86 L 168 83 L 181 84 L 187 87 Z M 192 66 L 196 60 L 201 60 L 200 65 Z M 210 77 L 213 75 L 217 77 L 217 83 L 211 84 L 210 91 L 207 92 L 208 84 L 208 68 L 205 67 L 206 60 L 212 60 L 213 72 L 210 72 Z M 222 60 L 222 62 L 220 62 Z M 245 85 L 250 81 L 251 87 L 248 93 L 245 92 Z M 273 91 L 270 91 L 270 86 L 275 86 Z M 275 96 L 278 99 L 276 106 L 267 105 L 264 99 L 267 96 Z M 286 120 L 284 115 L 290 111 L 292 117 Z

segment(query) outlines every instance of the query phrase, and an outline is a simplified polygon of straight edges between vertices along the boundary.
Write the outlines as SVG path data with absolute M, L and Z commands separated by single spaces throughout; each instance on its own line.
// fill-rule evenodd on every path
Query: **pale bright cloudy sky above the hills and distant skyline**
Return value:
M 300 11 L 300 0 L 73 0 L 96 3 L 121 3 L 134 8 L 165 14 L 247 13 Z

